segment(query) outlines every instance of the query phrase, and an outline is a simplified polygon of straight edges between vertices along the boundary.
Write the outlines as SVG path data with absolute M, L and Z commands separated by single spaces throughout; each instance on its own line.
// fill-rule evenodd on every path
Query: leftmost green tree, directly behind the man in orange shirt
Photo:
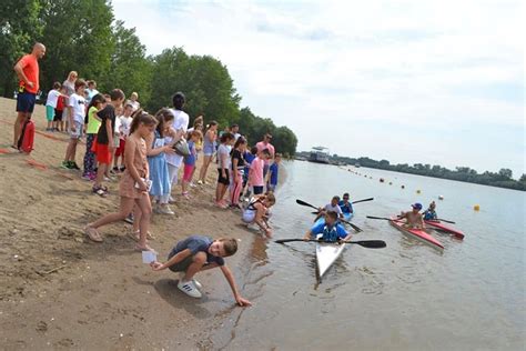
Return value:
M 0 1 L 0 94 L 11 97 L 14 90 L 17 61 L 31 51 L 44 22 L 39 20 L 38 0 Z

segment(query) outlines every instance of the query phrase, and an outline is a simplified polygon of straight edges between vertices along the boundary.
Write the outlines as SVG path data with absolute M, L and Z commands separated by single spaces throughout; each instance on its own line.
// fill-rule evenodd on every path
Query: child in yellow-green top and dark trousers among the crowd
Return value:
M 85 114 L 85 153 L 84 172 L 82 173 L 82 179 L 84 180 L 94 180 L 97 178 L 95 153 L 91 149 L 93 148 L 93 142 L 95 141 L 97 132 L 101 127 L 101 119 L 97 116 L 97 112 L 102 110 L 104 106 L 104 97 L 98 93 L 91 98 L 90 106 L 88 107 L 88 113 Z

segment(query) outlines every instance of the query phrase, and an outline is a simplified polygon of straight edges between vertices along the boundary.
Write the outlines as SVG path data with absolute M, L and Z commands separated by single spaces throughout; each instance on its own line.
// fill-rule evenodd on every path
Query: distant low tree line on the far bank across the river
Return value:
M 300 152 L 299 154 L 307 154 L 307 153 Z M 476 170 L 471 169 L 469 167 L 456 167 L 455 170 L 449 170 L 438 164 L 434 164 L 434 166 L 422 164 L 422 163 L 415 163 L 413 166 L 409 166 L 407 163 L 391 164 L 390 161 L 387 160 L 376 161 L 367 157 L 348 158 L 348 157 L 340 157 L 337 154 L 333 154 L 331 159 L 332 161 L 343 162 L 343 163 L 347 163 L 352 166 L 358 163 L 360 166 L 367 167 L 367 168 L 383 169 L 383 170 L 395 171 L 395 172 L 458 180 L 458 181 L 464 181 L 464 182 L 469 182 L 469 183 L 477 183 L 477 184 L 484 184 L 484 185 L 526 191 L 526 174 L 523 174 L 520 176 L 518 180 L 515 180 L 513 179 L 512 170 L 506 169 L 506 168 L 500 169 L 498 172 L 485 171 L 483 173 L 478 173 Z

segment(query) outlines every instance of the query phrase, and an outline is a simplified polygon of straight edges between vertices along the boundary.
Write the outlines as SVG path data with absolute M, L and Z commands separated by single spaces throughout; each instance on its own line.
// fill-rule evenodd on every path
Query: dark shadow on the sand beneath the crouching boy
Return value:
M 195 299 L 188 297 L 184 292 L 178 289 L 179 280 L 174 279 L 160 279 L 155 283 L 153 283 L 153 288 L 159 293 L 161 298 L 164 299 L 168 303 L 170 303 L 175 309 L 183 308 L 198 319 L 208 319 L 212 318 L 214 313 L 210 312 L 208 309 L 201 307 L 205 302 L 212 301 L 203 293 L 201 299 Z

